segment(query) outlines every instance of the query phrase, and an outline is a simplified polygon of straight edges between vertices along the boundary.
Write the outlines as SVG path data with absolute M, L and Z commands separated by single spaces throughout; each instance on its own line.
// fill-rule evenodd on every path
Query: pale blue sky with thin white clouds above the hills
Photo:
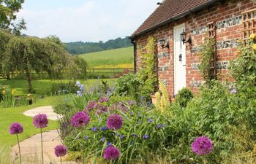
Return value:
M 25 0 L 18 19 L 29 36 L 99 42 L 130 36 L 161 0 Z

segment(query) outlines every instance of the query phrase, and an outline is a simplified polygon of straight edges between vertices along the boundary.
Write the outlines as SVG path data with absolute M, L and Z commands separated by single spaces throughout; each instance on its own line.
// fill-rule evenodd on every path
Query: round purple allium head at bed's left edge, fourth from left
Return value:
M 71 120 L 73 127 L 80 128 L 84 125 L 87 125 L 90 121 L 90 117 L 85 112 L 76 113 Z

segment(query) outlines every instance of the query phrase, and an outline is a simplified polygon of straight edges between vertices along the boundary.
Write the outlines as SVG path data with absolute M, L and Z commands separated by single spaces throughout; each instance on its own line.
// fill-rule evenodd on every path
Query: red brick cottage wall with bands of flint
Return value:
M 224 4 L 215 4 L 213 7 L 204 9 L 196 14 L 190 14 L 186 18 L 177 20 L 175 23 L 168 23 L 165 26 L 157 28 L 146 34 L 135 38 L 137 45 L 136 63 L 137 69 L 140 67 L 141 49 L 146 45 L 148 37 L 153 36 L 159 40 L 168 39 L 170 50 L 165 48 L 162 50 L 159 42 L 157 42 L 157 54 L 159 63 L 159 80 L 162 80 L 167 86 L 170 95 L 174 93 L 174 65 L 173 65 L 173 27 L 181 23 L 185 23 L 187 36 L 192 35 L 192 44 L 187 43 L 187 87 L 196 92 L 203 78 L 198 70 L 199 56 L 198 50 L 200 44 L 207 36 L 207 23 L 214 21 L 217 27 L 217 68 L 218 79 L 232 80 L 227 76 L 227 66 L 229 60 L 236 58 L 237 39 L 241 39 L 241 12 L 256 8 L 256 4 L 250 0 L 230 0 Z

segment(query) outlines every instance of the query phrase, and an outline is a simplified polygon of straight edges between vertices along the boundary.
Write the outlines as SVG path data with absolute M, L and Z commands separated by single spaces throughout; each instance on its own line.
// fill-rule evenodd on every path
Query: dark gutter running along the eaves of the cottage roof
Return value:
M 164 21 L 162 21 L 161 23 L 158 23 L 157 25 L 152 26 L 151 28 L 147 28 L 146 30 L 141 31 L 141 32 L 138 33 L 138 34 L 129 36 L 129 39 L 135 39 L 135 37 L 140 36 L 140 35 L 142 35 L 142 34 L 145 34 L 145 33 L 149 32 L 149 31 L 152 31 L 152 30 L 154 30 L 154 29 L 156 29 L 156 28 L 159 28 L 160 26 L 164 26 L 164 25 L 167 24 L 167 23 L 175 22 L 175 20 L 178 20 L 178 19 L 180 19 L 181 17 L 186 17 L 187 15 L 191 14 L 192 12 L 197 12 L 197 11 L 199 11 L 199 10 L 201 10 L 201 9 L 204 9 L 204 8 L 206 8 L 206 7 L 208 7 L 208 6 L 211 6 L 212 4 L 214 4 L 215 2 L 218 2 L 218 1 L 220 1 L 220 0 L 211 0 L 211 1 L 208 1 L 208 2 L 206 2 L 206 3 L 204 3 L 204 4 L 200 4 L 199 6 L 194 7 L 194 8 L 192 8 L 192 9 L 189 9 L 189 10 L 186 11 L 186 12 L 182 12 L 181 14 L 178 14 L 178 15 L 176 15 L 176 16 L 174 16 L 174 17 L 170 17 L 169 19 L 164 20 Z

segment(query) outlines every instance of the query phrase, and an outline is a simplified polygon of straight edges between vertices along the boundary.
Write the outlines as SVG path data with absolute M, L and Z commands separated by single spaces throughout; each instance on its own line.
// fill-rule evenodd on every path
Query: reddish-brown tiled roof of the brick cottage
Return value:
M 195 7 L 203 6 L 211 2 L 214 2 L 214 0 L 165 0 L 132 34 L 132 36 L 136 36 L 154 26 L 165 23 L 172 17 L 181 15 L 184 12 L 189 12 L 189 10 L 195 9 Z

